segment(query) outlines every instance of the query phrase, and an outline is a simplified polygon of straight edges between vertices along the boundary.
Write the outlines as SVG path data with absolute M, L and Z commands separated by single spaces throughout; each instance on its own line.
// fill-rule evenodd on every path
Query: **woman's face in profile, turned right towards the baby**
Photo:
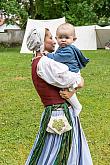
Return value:
M 50 31 L 46 31 L 44 40 L 44 50 L 48 52 L 53 52 L 55 50 L 56 42 L 53 40 Z

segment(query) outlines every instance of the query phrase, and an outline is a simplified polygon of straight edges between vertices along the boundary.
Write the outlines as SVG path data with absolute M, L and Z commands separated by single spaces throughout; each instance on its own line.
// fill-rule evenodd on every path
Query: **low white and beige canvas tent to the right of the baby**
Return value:
M 110 26 L 98 25 L 76 27 L 76 45 L 80 50 L 97 50 L 104 48 L 110 40 Z

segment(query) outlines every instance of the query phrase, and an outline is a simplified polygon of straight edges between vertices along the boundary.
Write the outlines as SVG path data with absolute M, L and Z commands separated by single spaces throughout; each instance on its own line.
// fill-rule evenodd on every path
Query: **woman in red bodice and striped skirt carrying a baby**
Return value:
M 34 34 L 35 38 L 36 33 Z M 39 41 L 41 42 L 41 39 Z M 46 33 L 42 45 L 45 51 L 52 52 L 54 50 L 55 42 L 49 31 Z M 36 49 L 34 46 L 34 50 L 38 51 L 39 49 L 39 46 Z M 65 100 L 71 97 L 72 92 L 60 91 L 60 88 L 72 85 L 74 74 L 68 71 L 68 67 L 64 64 L 59 64 L 37 52 L 32 61 L 32 80 L 45 110 L 26 165 L 92 165 L 88 144 L 79 118 L 74 115 L 72 107 Z M 60 135 L 54 132 L 55 129 L 47 130 L 51 117 L 57 118 L 59 116 L 65 116 L 68 125 L 72 128 Z

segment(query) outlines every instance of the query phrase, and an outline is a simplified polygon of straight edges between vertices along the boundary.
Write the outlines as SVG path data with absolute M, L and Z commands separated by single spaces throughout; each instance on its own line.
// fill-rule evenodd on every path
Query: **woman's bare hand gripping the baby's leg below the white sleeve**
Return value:
M 76 93 L 76 90 L 75 89 L 73 89 L 73 91 L 68 91 L 68 89 L 63 89 L 63 90 L 60 90 L 60 96 L 63 98 L 63 99 L 69 99 L 69 98 L 71 98 L 72 97 L 72 95 L 74 94 L 74 93 Z

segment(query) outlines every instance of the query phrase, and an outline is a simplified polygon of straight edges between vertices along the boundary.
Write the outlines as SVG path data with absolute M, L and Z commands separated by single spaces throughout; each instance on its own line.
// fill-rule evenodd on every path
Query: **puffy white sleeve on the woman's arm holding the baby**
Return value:
M 77 82 L 76 73 L 70 72 L 68 66 L 46 56 L 39 60 L 37 74 L 47 83 L 59 88 L 68 88 Z

